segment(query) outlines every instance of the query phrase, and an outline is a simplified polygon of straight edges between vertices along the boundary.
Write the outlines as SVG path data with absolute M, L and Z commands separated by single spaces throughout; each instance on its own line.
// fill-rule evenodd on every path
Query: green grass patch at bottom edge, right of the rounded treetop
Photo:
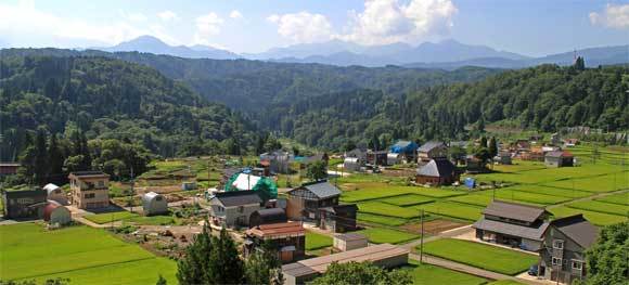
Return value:
M 415 260 L 409 261 L 409 265 L 400 270 L 408 270 L 415 285 L 431 284 L 457 284 L 457 285 L 480 285 L 487 281 L 485 278 L 461 273 L 458 271 L 435 267 L 431 264 L 420 264 Z

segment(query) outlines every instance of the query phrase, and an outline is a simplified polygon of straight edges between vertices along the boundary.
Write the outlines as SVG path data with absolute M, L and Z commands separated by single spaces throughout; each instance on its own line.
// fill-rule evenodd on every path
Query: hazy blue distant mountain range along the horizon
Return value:
M 568 65 L 575 52 L 530 57 L 508 51 L 498 51 L 486 46 L 472 46 L 455 40 L 437 43 L 424 42 L 418 47 L 407 43 L 385 46 L 360 46 L 352 42 L 331 40 L 320 43 L 295 44 L 273 48 L 262 53 L 236 54 L 206 46 L 172 47 L 151 36 L 121 42 L 111 48 L 97 50 L 138 51 L 167 54 L 188 59 L 233 60 L 248 59 L 282 63 L 320 63 L 337 66 L 361 65 L 368 67 L 399 65 L 411 68 L 455 69 L 462 66 L 491 68 L 523 68 L 544 63 Z M 576 51 L 586 59 L 586 65 L 609 65 L 629 63 L 629 46 L 602 47 Z

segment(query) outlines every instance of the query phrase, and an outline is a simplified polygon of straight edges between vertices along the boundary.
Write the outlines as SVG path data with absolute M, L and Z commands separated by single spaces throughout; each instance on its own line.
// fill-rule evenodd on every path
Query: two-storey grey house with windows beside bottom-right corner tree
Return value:
M 565 284 L 586 278 L 585 251 L 598 236 L 596 226 L 582 215 L 551 221 L 543 234 L 538 275 Z

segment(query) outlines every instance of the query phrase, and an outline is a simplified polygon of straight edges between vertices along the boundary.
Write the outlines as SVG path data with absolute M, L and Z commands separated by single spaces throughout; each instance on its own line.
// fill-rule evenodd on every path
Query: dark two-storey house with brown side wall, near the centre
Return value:
M 356 229 L 356 205 L 338 205 L 341 190 L 317 181 L 288 191 L 286 215 L 293 220 L 310 220 L 333 231 Z

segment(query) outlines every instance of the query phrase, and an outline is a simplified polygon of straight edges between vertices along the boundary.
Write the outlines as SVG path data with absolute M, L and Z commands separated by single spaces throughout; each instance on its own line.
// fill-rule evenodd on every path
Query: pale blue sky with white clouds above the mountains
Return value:
M 238 53 L 454 39 L 540 56 L 628 44 L 629 0 L 0 0 L 0 47 L 110 47 L 142 35 Z

